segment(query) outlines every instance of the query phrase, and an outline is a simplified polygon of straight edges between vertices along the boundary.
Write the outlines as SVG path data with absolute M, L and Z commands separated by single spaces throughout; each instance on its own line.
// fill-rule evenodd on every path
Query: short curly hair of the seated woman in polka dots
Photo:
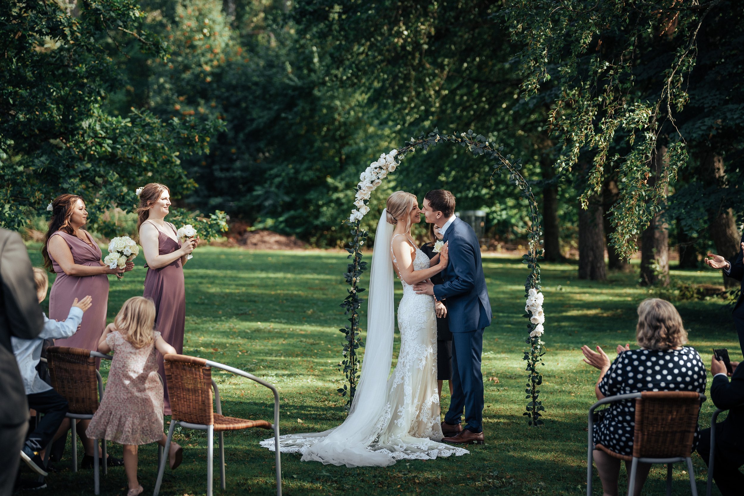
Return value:
M 649 298 L 638 305 L 635 338 L 647 350 L 670 350 L 687 343 L 687 331 L 672 303 Z

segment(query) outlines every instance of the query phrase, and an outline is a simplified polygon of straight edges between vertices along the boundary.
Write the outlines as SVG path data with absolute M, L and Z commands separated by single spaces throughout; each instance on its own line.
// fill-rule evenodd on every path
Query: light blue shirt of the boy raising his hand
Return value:
M 23 387 L 26 394 L 43 393 L 51 389 L 51 386 L 36 372 L 36 365 L 42 355 L 42 346 L 45 339 L 69 338 L 77 331 L 77 326 L 83 321 L 83 310 L 73 306 L 67 319 L 62 322 L 52 321 L 44 314 L 44 328 L 42 332 L 33 339 L 19 339 L 10 337 L 13 343 L 13 355 L 16 355 L 18 368 L 21 370 Z

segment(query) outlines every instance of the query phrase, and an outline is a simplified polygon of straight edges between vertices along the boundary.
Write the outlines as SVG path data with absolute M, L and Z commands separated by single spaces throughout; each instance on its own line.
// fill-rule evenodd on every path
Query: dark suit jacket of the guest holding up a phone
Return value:
M 731 381 L 725 376 L 713 378 L 711 399 L 716 407 L 731 409 L 726 419 L 718 424 L 716 438 L 727 439 L 729 445 L 744 451 L 744 406 L 739 406 L 744 405 L 744 362 L 734 370 Z

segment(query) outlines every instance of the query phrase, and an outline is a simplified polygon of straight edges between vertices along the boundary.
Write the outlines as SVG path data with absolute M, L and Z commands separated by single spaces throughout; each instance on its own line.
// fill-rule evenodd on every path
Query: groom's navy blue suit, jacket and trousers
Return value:
M 465 408 L 465 428 L 479 433 L 483 431 L 483 329 L 491 323 L 481 245 L 472 228 L 458 218 L 449 225 L 443 240 L 449 242 L 449 264 L 442 271 L 444 283 L 434 286 L 434 297 L 447 300 L 454 391 L 444 421 L 459 424 Z

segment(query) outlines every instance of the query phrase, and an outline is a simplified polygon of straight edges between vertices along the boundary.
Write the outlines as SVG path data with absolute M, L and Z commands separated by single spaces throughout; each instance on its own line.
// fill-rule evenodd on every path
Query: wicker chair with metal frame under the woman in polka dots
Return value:
M 606 446 L 594 446 L 594 410 L 600 405 L 635 399 L 635 432 L 632 456 L 611 451 Z M 672 465 L 686 462 L 690 473 L 690 488 L 697 496 L 695 472 L 690 458 L 700 405 L 705 395 L 694 391 L 644 391 L 643 393 L 609 396 L 589 408 L 589 446 L 586 461 L 586 495 L 591 496 L 592 461 L 594 448 L 611 457 L 631 462 L 628 474 L 628 496 L 635 489 L 638 462 L 667 464 L 667 495 L 672 494 Z

